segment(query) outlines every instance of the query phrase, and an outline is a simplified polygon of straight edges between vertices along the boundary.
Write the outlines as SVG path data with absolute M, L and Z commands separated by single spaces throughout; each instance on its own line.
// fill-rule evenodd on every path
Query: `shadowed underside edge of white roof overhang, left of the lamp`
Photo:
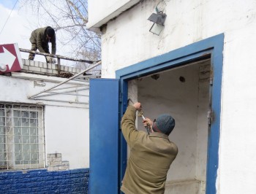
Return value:
M 116 11 L 112 12 L 110 15 L 107 15 L 105 18 L 102 18 L 102 20 L 99 20 L 97 23 L 90 23 L 90 19 L 89 19 L 89 22 L 86 24 L 87 29 L 89 31 L 99 32 L 99 28 L 102 25 L 108 23 L 109 20 L 111 20 L 111 19 L 115 18 L 116 16 L 120 15 L 122 12 L 126 11 L 127 9 L 129 9 L 133 5 L 137 4 L 138 2 L 140 2 L 140 0 L 129 1 L 127 4 L 124 4 L 123 6 L 116 9 Z

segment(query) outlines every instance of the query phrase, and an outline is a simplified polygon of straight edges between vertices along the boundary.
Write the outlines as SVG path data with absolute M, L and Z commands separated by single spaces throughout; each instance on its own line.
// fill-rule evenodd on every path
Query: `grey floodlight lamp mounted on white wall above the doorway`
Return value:
M 149 31 L 159 36 L 162 29 L 164 28 L 166 16 L 167 15 L 162 12 L 152 13 L 151 16 L 148 18 L 148 20 L 153 22 L 153 25 L 151 26 Z

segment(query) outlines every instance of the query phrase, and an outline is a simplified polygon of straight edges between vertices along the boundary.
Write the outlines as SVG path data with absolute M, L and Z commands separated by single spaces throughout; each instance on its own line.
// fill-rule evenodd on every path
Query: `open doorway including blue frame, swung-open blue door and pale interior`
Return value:
M 217 193 L 223 46 L 219 34 L 118 69 L 116 79 L 90 80 L 92 193 L 121 193 L 127 143 L 120 121 L 132 96 L 143 103 L 146 117 L 170 112 L 176 119 L 170 140 L 179 152 L 166 193 Z

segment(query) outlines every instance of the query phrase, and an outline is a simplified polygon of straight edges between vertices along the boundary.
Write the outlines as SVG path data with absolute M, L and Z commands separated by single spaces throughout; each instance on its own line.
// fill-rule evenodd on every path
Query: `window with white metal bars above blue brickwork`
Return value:
M 43 106 L 0 102 L 0 170 L 44 167 Z

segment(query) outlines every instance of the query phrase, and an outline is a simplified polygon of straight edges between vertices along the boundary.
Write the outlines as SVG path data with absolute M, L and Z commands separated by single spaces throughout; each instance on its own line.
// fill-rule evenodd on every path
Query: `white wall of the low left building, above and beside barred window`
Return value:
M 62 160 L 69 161 L 69 169 L 89 168 L 89 105 L 61 102 L 61 100 L 88 102 L 89 98 L 78 98 L 75 95 L 46 96 L 46 99 L 56 101 L 28 98 L 63 80 L 67 79 L 18 72 L 12 73 L 11 77 L 0 76 L 0 101 L 44 106 L 46 156 L 58 152 L 62 154 Z M 45 85 L 37 85 L 39 82 Z M 61 87 L 80 84 L 81 82 L 70 81 Z M 79 94 L 89 95 L 89 90 L 81 91 Z

